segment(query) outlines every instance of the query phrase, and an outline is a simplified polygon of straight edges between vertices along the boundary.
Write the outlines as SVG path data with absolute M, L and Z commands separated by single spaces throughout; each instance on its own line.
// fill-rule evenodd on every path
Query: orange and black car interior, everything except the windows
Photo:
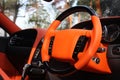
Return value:
M 75 12 L 91 20 L 57 30 Z M 87 6 L 61 13 L 48 29 L 20 29 L 0 12 L 0 80 L 119 80 L 120 16 L 99 18 Z

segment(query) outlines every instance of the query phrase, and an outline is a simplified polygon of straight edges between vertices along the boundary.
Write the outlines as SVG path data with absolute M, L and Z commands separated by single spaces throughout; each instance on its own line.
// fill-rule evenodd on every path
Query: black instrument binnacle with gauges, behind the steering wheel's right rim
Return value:
M 109 17 L 101 18 L 102 24 L 102 42 L 109 44 L 120 43 L 120 18 L 119 17 Z M 74 25 L 73 29 L 92 29 L 93 25 L 91 21 L 81 22 Z

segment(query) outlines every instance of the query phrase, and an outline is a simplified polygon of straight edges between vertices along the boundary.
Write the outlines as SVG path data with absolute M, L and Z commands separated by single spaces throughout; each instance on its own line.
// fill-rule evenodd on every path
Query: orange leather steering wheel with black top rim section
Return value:
M 61 21 L 75 12 L 88 12 L 93 24 L 92 30 L 65 29 L 56 30 Z M 89 25 L 88 25 L 89 26 Z M 76 44 L 80 37 L 88 38 L 83 51 L 74 54 Z M 43 63 L 49 63 L 50 58 L 69 62 L 77 70 L 83 68 L 98 50 L 102 37 L 102 27 L 99 18 L 93 9 L 87 6 L 75 6 L 60 14 L 50 25 L 44 37 L 41 57 Z M 51 38 L 54 38 L 51 42 Z M 50 47 L 51 46 L 51 47 Z M 50 51 L 51 50 L 51 51 Z M 76 55 L 77 60 L 73 56 Z

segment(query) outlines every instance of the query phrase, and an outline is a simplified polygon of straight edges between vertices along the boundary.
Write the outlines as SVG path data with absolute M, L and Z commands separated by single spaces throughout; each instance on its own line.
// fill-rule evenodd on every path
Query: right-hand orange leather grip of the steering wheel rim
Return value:
M 78 58 L 79 60 L 74 64 L 76 69 L 81 69 L 84 64 L 87 64 L 92 56 L 96 53 L 98 47 L 100 46 L 101 38 L 102 38 L 102 27 L 98 17 L 91 16 L 91 20 L 93 23 L 93 29 L 91 32 L 91 40 L 88 46 L 88 49 L 83 52 L 82 57 Z

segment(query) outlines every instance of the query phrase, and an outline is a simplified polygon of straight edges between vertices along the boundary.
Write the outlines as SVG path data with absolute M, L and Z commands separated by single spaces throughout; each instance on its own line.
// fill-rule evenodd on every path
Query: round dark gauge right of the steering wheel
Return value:
M 103 40 L 106 42 L 113 42 L 119 36 L 119 25 L 117 24 L 110 24 L 103 26 Z

